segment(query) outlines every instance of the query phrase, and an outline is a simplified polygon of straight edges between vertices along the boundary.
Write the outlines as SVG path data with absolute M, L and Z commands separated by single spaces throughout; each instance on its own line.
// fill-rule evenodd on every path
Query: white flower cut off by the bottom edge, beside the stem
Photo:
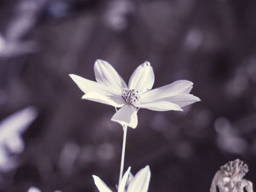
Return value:
M 129 166 L 118 186 L 118 192 L 147 192 L 151 177 L 149 166 L 140 169 L 135 177 L 130 171 L 131 167 Z M 93 175 L 92 177 L 94 177 L 94 183 L 99 189 L 99 192 L 112 192 L 99 177 L 96 175 Z

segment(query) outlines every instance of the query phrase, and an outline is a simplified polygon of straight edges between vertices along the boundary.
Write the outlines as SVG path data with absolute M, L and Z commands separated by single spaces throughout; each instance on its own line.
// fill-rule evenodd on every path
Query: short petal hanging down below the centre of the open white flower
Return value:
M 135 110 L 135 107 L 132 107 L 132 105 L 124 105 L 124 107 L 121 107 L 121 109 L 113 115 L 111 120 L 120 123 L 121 125 L 136 128 L 138 125 L 137 111 Z

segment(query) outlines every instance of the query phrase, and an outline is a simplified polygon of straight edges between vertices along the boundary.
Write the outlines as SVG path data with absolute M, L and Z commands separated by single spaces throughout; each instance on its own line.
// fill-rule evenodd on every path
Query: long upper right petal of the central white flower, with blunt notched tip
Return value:
M 155 100 L 160 100 L 167 96 L 175 96 L 181 93 L 189 93 L 192 89 L 193 82 L 188 80 L 178 80 L 176 82 L 170 83 L 169 85 L 162 86 L 160 88 L 155 88 L 151 91 L 143 93 L 140 95 L 140 99 L 143 102 L 151 102 Z

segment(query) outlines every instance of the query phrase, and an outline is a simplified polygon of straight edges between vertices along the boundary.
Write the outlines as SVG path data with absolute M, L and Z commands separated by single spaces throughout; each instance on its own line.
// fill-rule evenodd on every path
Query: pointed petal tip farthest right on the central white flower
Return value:
M 176 96 L 167 97 L 165 99 L 174 104 L 178 104 L 179 107 L 184 107 L 188 104 L 193 104 L 197 101 L 201 101 L 197 96 L 193 96 L 192 94 L 179 94 Z

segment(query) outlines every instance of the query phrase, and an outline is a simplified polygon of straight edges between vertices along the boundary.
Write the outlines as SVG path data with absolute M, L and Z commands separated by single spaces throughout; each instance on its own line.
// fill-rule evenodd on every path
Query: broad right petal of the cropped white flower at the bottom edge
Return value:
M 147 192 L 150 177 L 151 172 L 149 166 L 145 166 L 143 169 L 140 169 L 129 184 L 127 192 Z

